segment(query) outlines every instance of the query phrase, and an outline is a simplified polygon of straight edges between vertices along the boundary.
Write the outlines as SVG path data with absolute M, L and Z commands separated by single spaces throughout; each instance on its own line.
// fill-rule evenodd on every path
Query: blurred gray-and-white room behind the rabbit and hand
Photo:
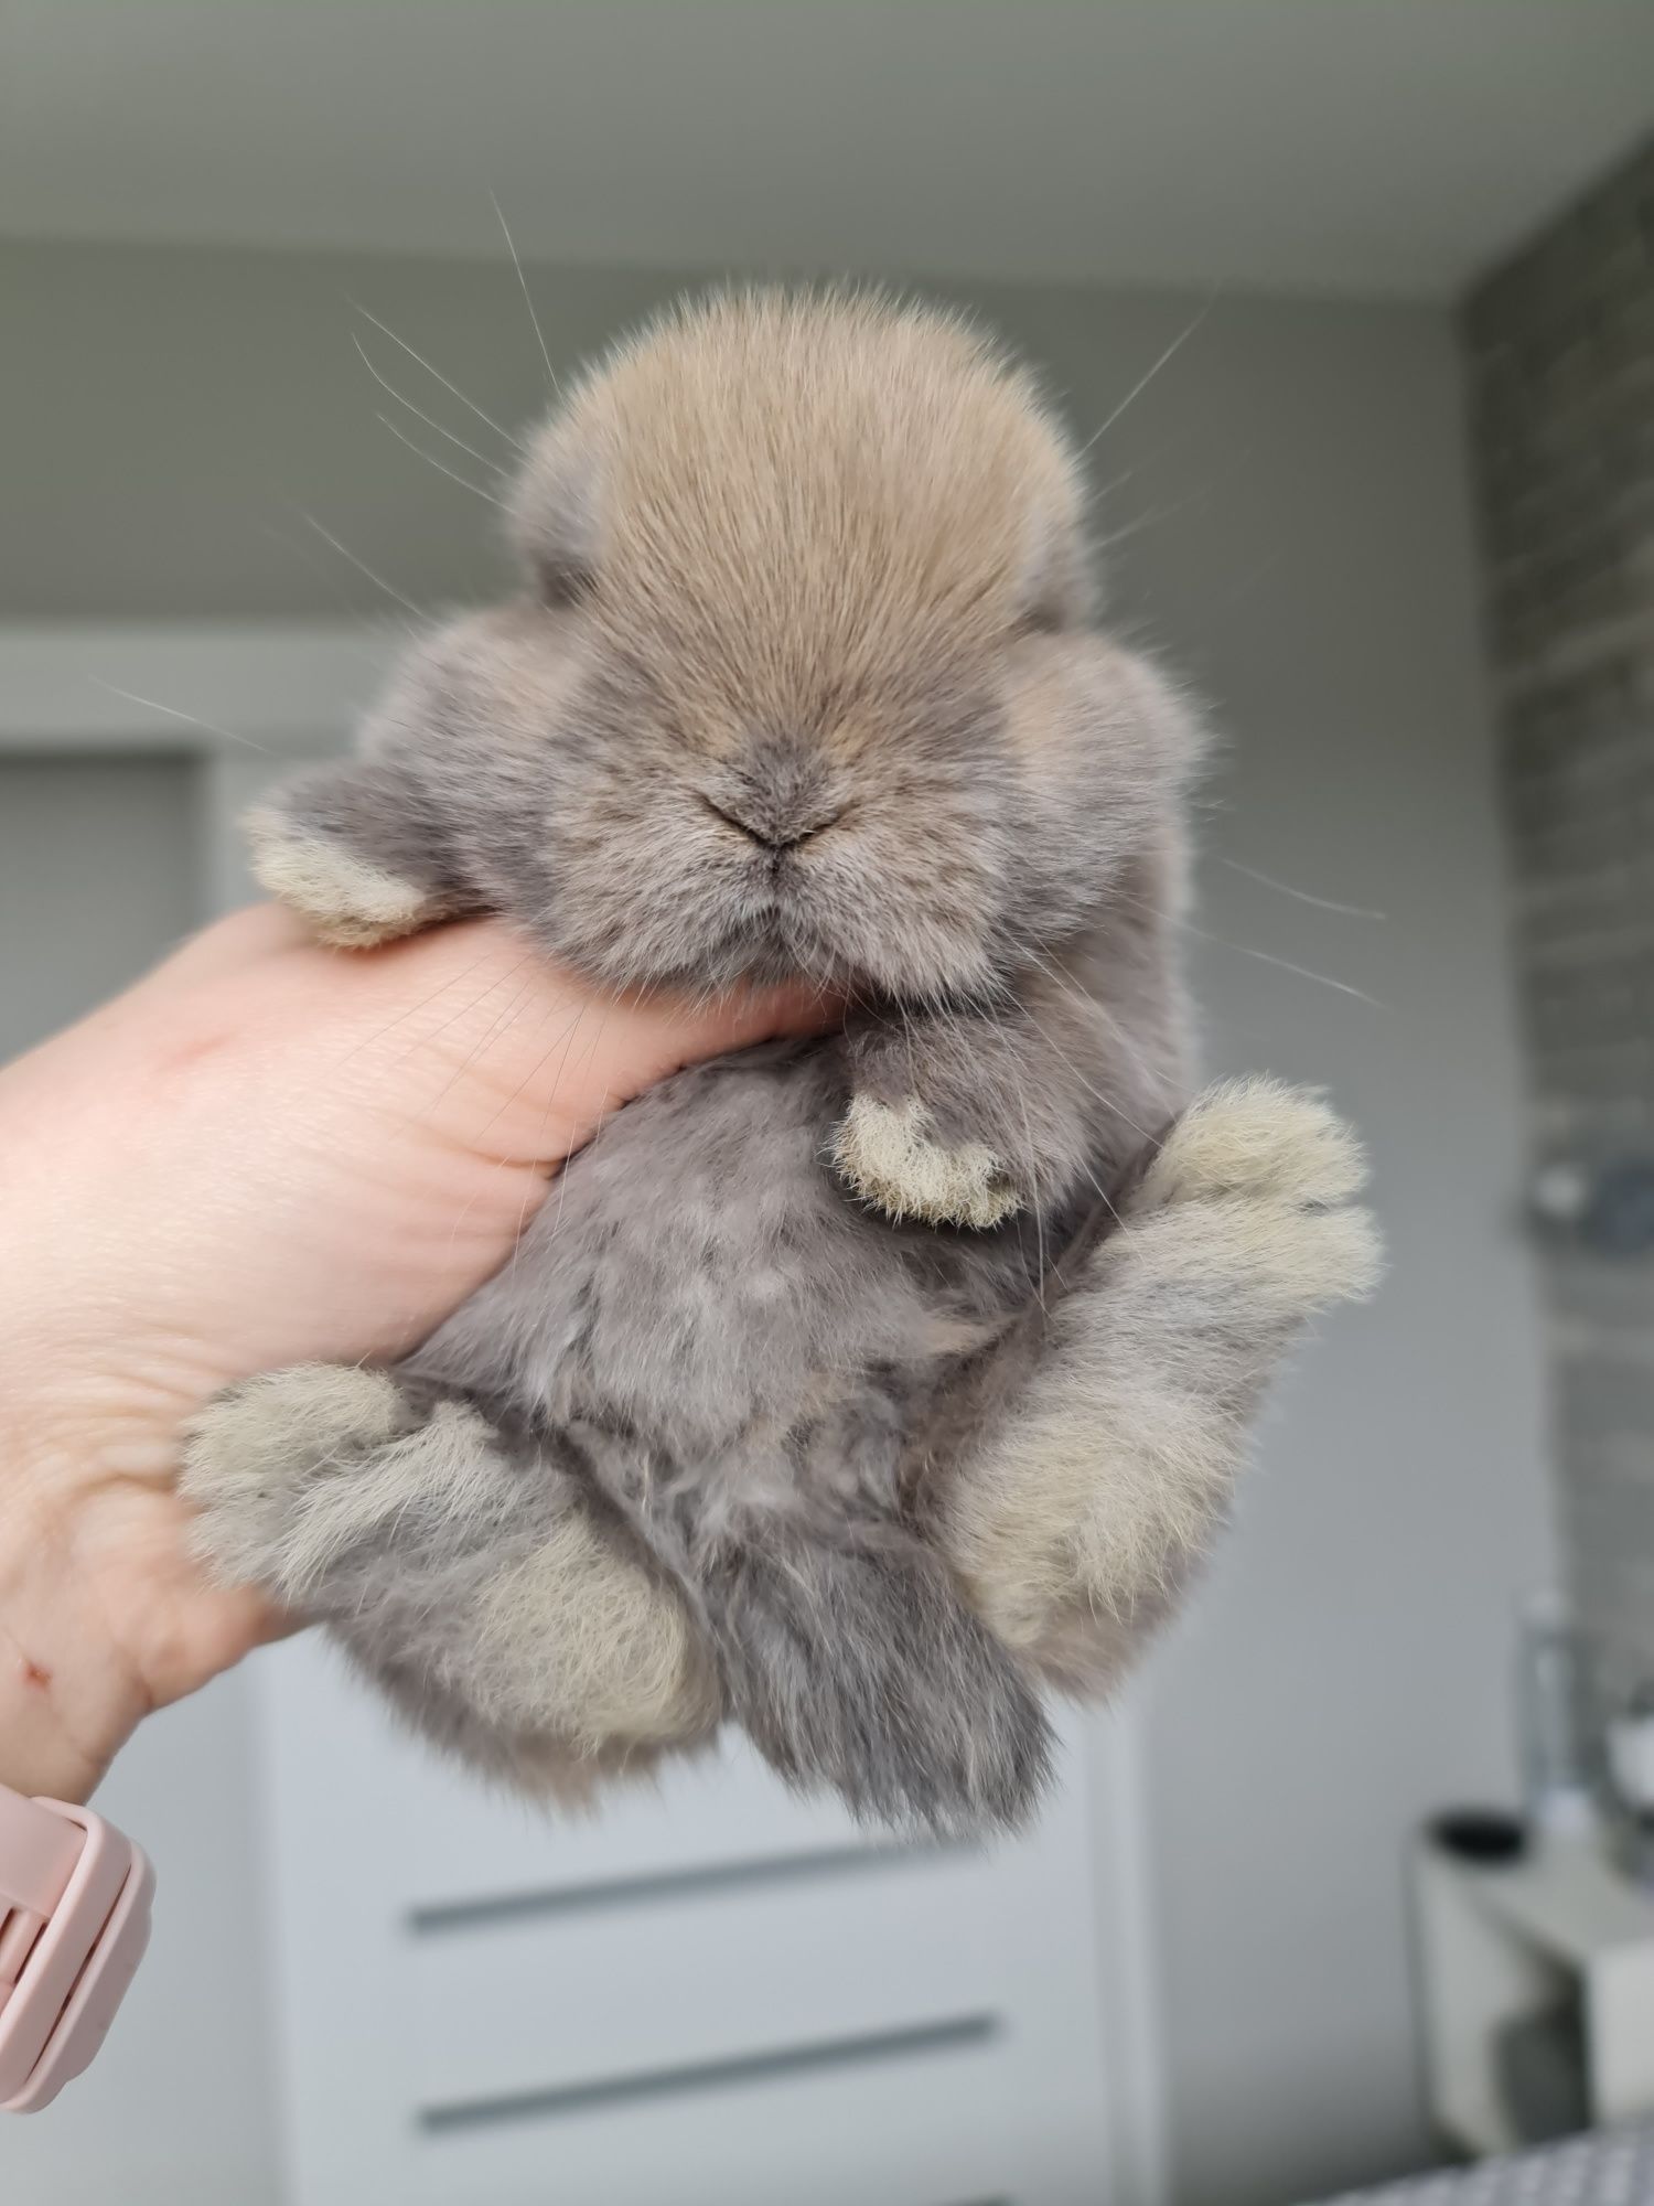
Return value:
M 1392 1249 L 1025 1846 L 739 1756 L 547 1831 L 307 1646 L 159 1716 L 154 1948 L 0 2195 L 1264 2206 L 1654 2111 L 1650 130 L 1612 0 L 0 7 L 0 1052 L 501 587 L 547 366 L 878 274 L 1089 446 L 1224 737 L 1209 1061 L 1332 1090 Z

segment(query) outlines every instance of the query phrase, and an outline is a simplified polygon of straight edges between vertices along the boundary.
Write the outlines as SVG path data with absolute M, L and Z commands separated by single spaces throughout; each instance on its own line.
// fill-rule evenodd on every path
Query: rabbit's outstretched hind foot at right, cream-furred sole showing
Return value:
M 1109 1683 L 1204 1551 L 1290 1341 L 1374 1288 L 1361 1182 L 1317 1096 L 1215 1088 L 1059 1304 L 1039 1390 L 950 1485 L 944 1522 L 984 1621 L 1056 1683 Z

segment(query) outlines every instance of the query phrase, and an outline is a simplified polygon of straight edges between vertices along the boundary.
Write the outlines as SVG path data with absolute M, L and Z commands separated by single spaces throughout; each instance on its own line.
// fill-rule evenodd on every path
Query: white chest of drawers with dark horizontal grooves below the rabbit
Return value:
M 265 1688 L 300 2206 L 1111 2195 L 1076 1785 L 1021 1844 L 902 1846 L 732 1745 L 551 1822 L 315 1641 Z

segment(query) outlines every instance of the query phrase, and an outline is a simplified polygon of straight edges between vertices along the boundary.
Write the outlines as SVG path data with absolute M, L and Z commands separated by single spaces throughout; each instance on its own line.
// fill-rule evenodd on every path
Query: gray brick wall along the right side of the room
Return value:
M 1539 1156 L 1654 1156 L 1654 143 L 1464 307 Z M 1654 1257 L 1546 1255 L 1581 1621 L 1654 1679 Z

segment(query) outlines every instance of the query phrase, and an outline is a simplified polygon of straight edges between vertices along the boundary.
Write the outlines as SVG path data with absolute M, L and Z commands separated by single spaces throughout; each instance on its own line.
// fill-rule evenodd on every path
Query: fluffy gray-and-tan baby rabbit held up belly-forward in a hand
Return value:
M 494 911 L 593 982 L 818 982 L 842 1035 L 629 1105 L 395 1370 L 201 1418 L 203 1553 L 527 1789 L 732 1716 L 798 1787 L 1010 1827 L 1288 1339 L 1374 1268 L 1361 1156 L 1186 1110 L 1189 713 L 1092 624 L 1074 457 L 946 313 L 756 291 L 591 375 L 529 587 L 251 823 L 337 944 Z

